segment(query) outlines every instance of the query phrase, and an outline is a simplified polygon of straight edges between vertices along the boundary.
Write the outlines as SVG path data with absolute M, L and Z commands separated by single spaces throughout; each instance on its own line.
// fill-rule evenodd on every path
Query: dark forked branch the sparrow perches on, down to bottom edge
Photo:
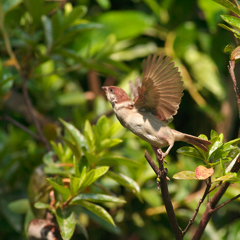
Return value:
M 158 168 L 146 150 L 145 150 L 145 158 L 147 159 L 148 163 L 150 164 L 150 166 L 152 167 L 156 175 L 160 178 L 159 185 L 162 192 L 162 198 L 167 211 L 167 215 L 169 218 L 172 231 L 175 234 L 175 239 L 182 240 L 183 239 L 182 229 L 178 225 L 177 218 L 172 205 L 171 197 L 169 195 L 167 178 L 166 178 L 167 171 L 163 167 L 163 159 L 160 155 L 157 156 L 157 160 L 159 162 L 159 168 Z

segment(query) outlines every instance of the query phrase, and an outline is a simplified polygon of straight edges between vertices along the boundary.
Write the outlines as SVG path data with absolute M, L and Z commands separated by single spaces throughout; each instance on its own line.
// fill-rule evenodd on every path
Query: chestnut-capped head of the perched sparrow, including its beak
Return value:
M 104 86 L 102 87 L 102 89 L 105 91 L 107 99 L 112 104 L 112 106 L 114 106 L 116 103 L 132 101 L 131 98 L 127 95 L 127 93 L 120 87 Z

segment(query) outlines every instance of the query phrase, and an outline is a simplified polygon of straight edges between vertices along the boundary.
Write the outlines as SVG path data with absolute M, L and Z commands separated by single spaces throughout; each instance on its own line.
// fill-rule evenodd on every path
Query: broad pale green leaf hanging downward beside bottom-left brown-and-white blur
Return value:
M 74 212 L 58 208 L 56 211 L 56 218 L 63 240 L 70 240 L 76 226 Z

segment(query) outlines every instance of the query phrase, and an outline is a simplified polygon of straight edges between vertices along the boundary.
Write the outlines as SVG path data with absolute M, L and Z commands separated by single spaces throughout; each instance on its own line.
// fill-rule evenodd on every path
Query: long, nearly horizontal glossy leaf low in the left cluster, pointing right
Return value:
M 113 202 L 113 203 L 126 203 L 125 200 L 112 197 L 105 194 L 97 194 L 97 193 L 82 193 L 78 196 L 74 197 L 70 204 L 78 204 L 79 201 L 87 200 L 89 202 Z

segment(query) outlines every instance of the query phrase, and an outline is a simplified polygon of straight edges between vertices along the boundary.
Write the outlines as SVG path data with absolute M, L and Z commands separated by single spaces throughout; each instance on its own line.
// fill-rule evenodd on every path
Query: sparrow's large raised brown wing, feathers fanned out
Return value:
M 135 106 L 155 114 L 160 120 L 169 122 L 177 113 L 183 95 L 183 82 L 180 72 L 164 59 L 164 53 L 150 55 L 143 61 L 142 86 L 138 86 L 134 95 Z

